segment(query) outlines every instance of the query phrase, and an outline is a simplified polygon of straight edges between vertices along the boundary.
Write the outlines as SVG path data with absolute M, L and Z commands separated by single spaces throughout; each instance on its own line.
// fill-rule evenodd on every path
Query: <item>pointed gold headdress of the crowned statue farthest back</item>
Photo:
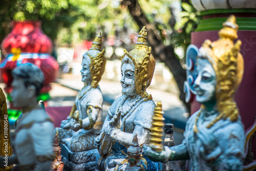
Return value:
M 90 64 L 90 72 L 91 72 L 91 77 L 92 77 L 92 83 L 91 87 L 94 89 L 97 88 L 98 82 L 101 79 L 101 76 L 105 70 L 105 63 L 106 63 L 106 58 L 104 56 L 105 50 L 103 49 L 101 51 L 101 45 L 102 45 L 102 37 L 101 33 L 99 32 L 93 41 L 92 47 L 89 49 L 86 54 L 83 56 L 88 55 L 91 60 Z

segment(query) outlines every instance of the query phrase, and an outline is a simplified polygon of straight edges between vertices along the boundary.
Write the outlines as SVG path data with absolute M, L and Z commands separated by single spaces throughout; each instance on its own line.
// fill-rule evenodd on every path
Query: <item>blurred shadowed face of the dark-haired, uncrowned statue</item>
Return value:
M 26 88 L 22 78 L 13 79 L 10 95 L 15 108 L 26 108 L 30 105 L 28 100 L 29 90 Z

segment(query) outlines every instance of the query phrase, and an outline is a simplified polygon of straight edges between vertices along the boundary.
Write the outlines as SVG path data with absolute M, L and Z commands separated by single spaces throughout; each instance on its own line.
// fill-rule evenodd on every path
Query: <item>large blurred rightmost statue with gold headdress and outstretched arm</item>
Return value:
M 182 144 L 155 152 L 144 146 L 154 161 L 191 161 L 191 170 L 243 170 L 244 128 L 234 93 L 243 75 L 243 57 L 239 53 L 238 25 L 231 16 L 223 24 L 220 38 L 205 40 L 197 58 L 196 100 L 201 109 L 192 115 L 185 128 Z

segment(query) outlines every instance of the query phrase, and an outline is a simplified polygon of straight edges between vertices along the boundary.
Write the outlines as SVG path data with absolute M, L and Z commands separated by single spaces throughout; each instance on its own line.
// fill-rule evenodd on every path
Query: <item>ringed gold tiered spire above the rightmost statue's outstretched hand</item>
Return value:
M 163 146 L 162 146 L 163 129 L 162 129 L 162 127 L 164 126 L 164 123 L 163 123 L 164 118 L 163 118 L 161 101 L 157 102 L 152 120 L 153 120 L 152 126 L 150 128 L 151 137 L 150 137 L 150 143 L 148 143 L 148 146 L 150 146 L 156 152 L 161 152 L 163 150 Z

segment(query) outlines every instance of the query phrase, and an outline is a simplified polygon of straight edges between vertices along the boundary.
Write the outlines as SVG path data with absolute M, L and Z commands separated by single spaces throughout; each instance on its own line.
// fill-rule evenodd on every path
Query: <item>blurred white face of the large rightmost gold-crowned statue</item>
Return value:
M 207 59 L 197 59 L 197 73 L 194 83 L 196 100 L 201 104 L 215 102 L 216 73 Z

